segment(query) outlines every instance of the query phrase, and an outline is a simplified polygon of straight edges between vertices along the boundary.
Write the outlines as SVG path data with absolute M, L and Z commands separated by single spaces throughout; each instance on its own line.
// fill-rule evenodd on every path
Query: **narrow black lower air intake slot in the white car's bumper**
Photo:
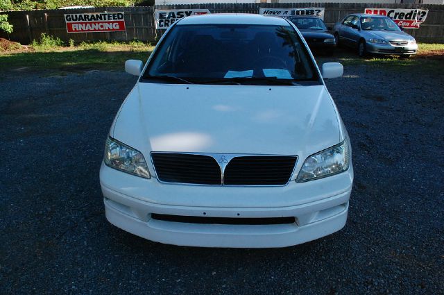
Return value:
M 230 217 L 196 217 L 168 214 L 151 214 L 151 218 L 161 221 L 182 222 L 186 224 L 241 224 L 241 225 L 268 225 L 268 224 L 294 224 L 295 217 L 273 218 L 230 218 Z

